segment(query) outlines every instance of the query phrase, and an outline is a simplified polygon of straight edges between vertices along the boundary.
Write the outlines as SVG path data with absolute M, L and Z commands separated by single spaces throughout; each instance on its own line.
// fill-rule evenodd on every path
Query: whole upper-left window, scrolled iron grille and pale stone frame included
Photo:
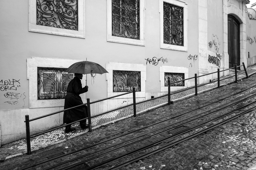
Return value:
M 83 0 L 29 0 L 28 30 L 85 38 Z

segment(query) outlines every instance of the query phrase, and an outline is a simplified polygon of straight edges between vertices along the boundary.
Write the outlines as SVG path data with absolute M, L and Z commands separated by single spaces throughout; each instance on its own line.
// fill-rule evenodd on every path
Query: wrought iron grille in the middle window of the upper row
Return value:
M 140 0 L 112 0 L 112 35 L 140 39 Z

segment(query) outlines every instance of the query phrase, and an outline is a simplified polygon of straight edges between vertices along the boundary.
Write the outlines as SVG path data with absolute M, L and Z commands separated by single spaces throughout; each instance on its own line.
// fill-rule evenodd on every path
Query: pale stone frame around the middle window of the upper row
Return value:
M 145 46 L 145 0 L 140 1 L 140 40 L 112 36 L 112 1 L 107 0 L 107 41 Z

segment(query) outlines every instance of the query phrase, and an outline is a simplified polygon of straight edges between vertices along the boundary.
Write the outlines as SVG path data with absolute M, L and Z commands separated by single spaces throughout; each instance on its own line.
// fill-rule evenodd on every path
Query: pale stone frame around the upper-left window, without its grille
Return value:
M 28 1 L 28 31 L 85 38 L 85 1 L 78 0 L 78 31 L 36 25 L 36 1 Z

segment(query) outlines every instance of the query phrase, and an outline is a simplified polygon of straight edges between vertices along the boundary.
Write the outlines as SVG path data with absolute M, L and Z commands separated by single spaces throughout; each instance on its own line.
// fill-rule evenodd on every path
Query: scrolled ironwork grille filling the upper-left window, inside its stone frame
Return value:
M 78 30 L 78 0 L 37 0 L 36 24 Z

